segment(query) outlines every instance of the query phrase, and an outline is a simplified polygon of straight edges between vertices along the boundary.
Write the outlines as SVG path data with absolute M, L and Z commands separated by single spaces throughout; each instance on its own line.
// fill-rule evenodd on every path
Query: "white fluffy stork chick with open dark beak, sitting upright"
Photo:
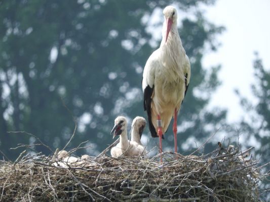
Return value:
M 113 138 L 120 135 L 120 142 L 111 148 L 110 154 L 112 157 L 117 158 L 121 155 L 136 157 L 143 155 L 144 148 L 137 142 L 129 141 L 127 135 L 127 120 L 125 117 L 117 117 L 114 120 L 114 127 L 111 130 L 113 133 Z

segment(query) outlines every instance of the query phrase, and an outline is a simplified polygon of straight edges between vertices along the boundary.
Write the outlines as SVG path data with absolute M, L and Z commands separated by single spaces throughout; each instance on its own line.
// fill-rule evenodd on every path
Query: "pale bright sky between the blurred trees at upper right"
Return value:
M 203 65 L 220 64 L 219 79 L 222 85 L 213 95 L 209 107 L 228 109 L 228 121 L 233 123 L 245 116 L 239 97 L 234 92 L 253 100 L 250 85 L 253 77 L 254 52 L 259 53 L 262 64 L 270 69 L 270 1 L 269 0 L 217 0 L 211 7 L 205 7 L 205 16 L 210 22 L 226 28 L 217 37 L 221 46 L 218 51 L 204 57 Z

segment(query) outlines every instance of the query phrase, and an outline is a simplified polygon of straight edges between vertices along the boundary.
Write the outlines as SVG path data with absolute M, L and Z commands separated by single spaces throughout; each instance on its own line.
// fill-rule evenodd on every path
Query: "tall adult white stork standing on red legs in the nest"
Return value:
M 174 117 L 174 150 L 177 153 L 177 115 L 188 88 L 190 63 L 178 34 L 176 9 L 167 6 L 163 14 L 161 45 L 150 55 L 143 70 L 144 110 L 151 136 L 160 139 L 160 153 L 163 133 Z

